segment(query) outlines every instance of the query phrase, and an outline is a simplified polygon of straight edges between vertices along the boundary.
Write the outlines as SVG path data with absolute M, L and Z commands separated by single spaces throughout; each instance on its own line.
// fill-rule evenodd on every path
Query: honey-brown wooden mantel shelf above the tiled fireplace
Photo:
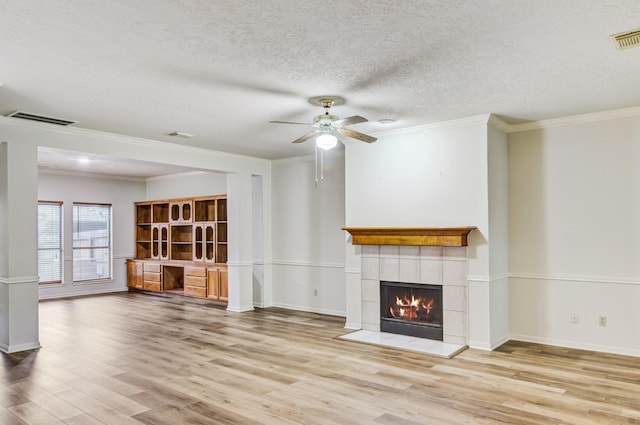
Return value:
M 475 227 L 343 227 L 354 245 L 467 246 Z

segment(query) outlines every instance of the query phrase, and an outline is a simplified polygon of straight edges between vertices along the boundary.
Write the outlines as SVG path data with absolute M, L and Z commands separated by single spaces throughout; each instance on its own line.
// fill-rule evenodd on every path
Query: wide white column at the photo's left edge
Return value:
M 0 350 L 40 347 L 37 261 L 38 150 L 0 143 Z

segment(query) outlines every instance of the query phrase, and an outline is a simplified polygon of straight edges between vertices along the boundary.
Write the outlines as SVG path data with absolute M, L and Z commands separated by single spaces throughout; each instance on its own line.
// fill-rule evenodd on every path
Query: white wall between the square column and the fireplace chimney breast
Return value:
M 273 305 L 345 315 L 344 155 L 325 153 L 314 185 L 313 157 L 272 166 Z

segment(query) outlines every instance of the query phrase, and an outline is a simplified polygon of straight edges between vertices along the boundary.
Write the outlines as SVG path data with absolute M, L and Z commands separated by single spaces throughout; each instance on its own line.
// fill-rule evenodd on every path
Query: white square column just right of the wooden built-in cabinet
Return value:
M 253 208 L 250 173 L 227 176 L 229 300 L 227 310 L 253 310 Z

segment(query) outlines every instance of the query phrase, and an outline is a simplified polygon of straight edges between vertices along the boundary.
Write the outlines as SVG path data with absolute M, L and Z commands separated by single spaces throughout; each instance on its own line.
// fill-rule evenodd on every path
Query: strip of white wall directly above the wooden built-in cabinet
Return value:
M 139 201 L 191 198 L 225 193 L 227 193 L 227 175 L 225 173 L 193 171 L 148 178 L 146 198 L 139 199 Z

